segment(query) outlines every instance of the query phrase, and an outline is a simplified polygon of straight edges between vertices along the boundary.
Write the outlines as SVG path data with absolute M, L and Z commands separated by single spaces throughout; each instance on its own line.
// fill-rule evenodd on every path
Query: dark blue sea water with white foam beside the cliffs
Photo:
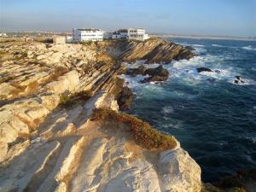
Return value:
M 201 166 L 204 182 L 256 167 L 256 42 L 172 41 L 194 47 L 198 56 L 166 64 L 170 77 L 163 84 L 125 76 L 135 93 L 128 113 L 177 137 Z M 196 67 L 219 72 L 197 73 Z M 236 75 L 245 83 L 234 84 Z

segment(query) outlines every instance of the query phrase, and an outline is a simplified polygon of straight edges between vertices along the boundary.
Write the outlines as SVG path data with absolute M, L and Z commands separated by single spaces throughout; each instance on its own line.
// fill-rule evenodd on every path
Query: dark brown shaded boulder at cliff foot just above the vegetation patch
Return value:
M 120 110 L 125 110 L 131 107 L 133 93 L 125 86 L 121 92 L 116 96 L 116 100 Z

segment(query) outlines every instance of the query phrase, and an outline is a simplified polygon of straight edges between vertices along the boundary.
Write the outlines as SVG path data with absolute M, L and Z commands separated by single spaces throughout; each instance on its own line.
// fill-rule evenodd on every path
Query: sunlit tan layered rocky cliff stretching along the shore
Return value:
M 174 138 L 145 148 L 122 119 L 91 119 L 95 108 L 119 110 L 120 61 L 191 56 L 158 39 L 0 44 L 0 191 L 201 191 L 200 167 Z

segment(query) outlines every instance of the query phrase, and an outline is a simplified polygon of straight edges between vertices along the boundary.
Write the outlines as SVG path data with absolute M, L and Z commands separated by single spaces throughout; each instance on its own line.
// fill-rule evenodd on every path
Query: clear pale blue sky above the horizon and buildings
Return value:
M 0 31 L 113 31 L 256 36 L 256 0 L 0 0 Z

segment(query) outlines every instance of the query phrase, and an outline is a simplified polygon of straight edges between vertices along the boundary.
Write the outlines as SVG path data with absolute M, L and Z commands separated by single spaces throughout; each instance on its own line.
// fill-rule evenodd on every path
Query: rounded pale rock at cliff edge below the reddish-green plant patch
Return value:
M 160 180 L 164 191 L 201 190 L 201 168 L 182 148 L 160 154 Z

